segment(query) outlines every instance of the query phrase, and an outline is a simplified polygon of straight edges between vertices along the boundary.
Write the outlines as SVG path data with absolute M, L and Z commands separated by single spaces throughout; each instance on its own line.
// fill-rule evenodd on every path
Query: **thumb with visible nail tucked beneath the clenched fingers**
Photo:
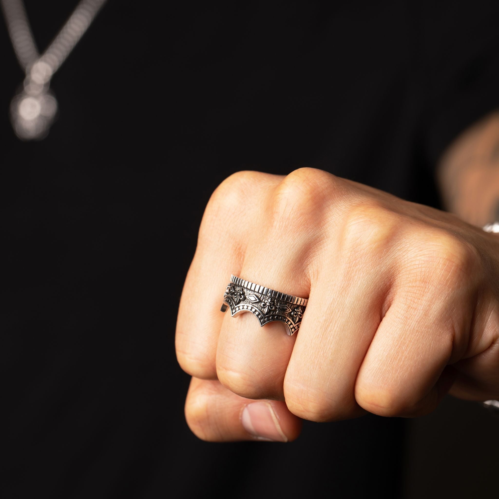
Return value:
M 219 381 L 198 378 L 191 380 L 185 415 L 192 432 L 208 442 L 288 442 L 302 425 L 284 402 L 245 399 Z

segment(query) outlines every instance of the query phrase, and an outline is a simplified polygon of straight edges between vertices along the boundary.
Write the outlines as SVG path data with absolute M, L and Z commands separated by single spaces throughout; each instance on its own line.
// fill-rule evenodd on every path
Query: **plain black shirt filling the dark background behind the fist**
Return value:
M 45 47 L 75 1 L 27 0 Z M 446 145 L 498 105 L 498 3 L 110 0 L 22 143 L 0 27 L 5 498 L 485 497 L 498 426 L 447 399 L 415 421 L 305 423 L 208 444 L 184 421 L 182 283 L 231 173 L 314 166 L 438 206 Z M 241 207 L 244 210 L 244 207 Z

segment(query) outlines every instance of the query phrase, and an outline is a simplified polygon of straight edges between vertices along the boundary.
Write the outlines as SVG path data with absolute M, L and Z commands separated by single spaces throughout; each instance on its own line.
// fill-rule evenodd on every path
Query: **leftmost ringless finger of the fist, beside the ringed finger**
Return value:
M 262 220 L 278 175 L 238 172 L 213 193 L 201 223 L 198 246 L 180 300 L 175 335 L 177 360 L 187 373 L 216 379 L 220 311 L 231 274 L 237 274 L 254 224 Z

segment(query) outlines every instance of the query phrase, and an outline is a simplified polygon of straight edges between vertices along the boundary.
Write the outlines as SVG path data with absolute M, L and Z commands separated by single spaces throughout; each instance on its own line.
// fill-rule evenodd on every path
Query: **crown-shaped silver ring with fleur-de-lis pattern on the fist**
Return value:
M 274 320 L 283 322 L 291 336 L 300 327 L 307 303 L 307 298 L 274 291 L 231 275 L 220 310 L 225 312 L 230 308 L 233 317 L 238 313 L 252 312 L 260 326 Z

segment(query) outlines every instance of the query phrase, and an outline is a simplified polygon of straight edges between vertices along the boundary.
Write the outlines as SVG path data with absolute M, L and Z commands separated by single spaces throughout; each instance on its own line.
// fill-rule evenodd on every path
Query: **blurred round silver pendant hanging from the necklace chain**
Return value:
M 10 121 L 21 140 L 44 139 L 57 114 L 57 101 L 46 86 L 23 90 L 10 102 Z

